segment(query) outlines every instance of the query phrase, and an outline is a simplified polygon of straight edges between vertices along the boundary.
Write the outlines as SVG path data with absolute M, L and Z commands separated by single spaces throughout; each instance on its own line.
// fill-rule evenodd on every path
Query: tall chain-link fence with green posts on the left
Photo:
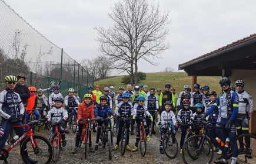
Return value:
M 94 78 L 63 49 L 49 41 L 0 0 L 0 84 L 4 90 L 4 77 L 26 75 L 25 84 L 48 88 L 51 81 L 62 79 L 61 93 L 68 88 L 78 90 L 79 97 L 94 86 Z M 48 93 L 49 94 L 49 93 Z

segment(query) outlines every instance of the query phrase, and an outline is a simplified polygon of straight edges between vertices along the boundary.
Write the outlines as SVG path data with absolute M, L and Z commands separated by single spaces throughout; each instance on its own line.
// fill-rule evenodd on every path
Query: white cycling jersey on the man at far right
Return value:
M 238 91 L 237 95 L 239 98 L 238 113 L 247 114 L 247 117 L 251 117 L 254 111 L 254 102 L 251 95 L 245 90 Z

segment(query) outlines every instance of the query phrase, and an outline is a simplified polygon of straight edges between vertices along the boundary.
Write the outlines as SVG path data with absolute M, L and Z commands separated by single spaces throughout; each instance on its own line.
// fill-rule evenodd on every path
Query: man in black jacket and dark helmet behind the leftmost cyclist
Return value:
M 28 86 L 24 84 L 26 77 L 25 74 L 19 73 L 17 76 L 18 83 L 16 84 L 14 91 L 19 94 L 19 97 L 21 97 L 22 104 L 24 107 L 26 107 L 28 103 L 28 98 L 30 97 L 30 93 L 28 90 Z M 22 122 L 24 122 L 25 114 L 23 115 Z

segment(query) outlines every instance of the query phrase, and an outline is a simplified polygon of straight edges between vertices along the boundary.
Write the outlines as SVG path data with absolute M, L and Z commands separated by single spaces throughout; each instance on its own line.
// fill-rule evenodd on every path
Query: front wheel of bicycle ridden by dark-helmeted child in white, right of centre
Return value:
M 172 136 L 171 132 L 164 134 L 162 148 L 164 149 L 165 155 L 170 159 L 174 159 L 178 155 L 178 142 L 175 136 Z

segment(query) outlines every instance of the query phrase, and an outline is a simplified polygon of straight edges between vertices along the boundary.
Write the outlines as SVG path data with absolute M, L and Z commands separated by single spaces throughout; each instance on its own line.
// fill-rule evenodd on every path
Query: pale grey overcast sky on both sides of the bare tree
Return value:
M 16 13 L 75 60 L 99 54 L 95 26 L 109 27 L 110 6 L 117 0 L 5 0 Z M 157 1 L 156 1 L 157 2 Z M 256 33 L 256 1 L 159 0 L 171 9 L 167 42 L 171 47 L 157 59 L 159 66 L 145 61 L 139 71 L 158 72 L 165 67 L 178 71 L 178 64 Z M 151 69 L 149 69 L 149 67 Z

